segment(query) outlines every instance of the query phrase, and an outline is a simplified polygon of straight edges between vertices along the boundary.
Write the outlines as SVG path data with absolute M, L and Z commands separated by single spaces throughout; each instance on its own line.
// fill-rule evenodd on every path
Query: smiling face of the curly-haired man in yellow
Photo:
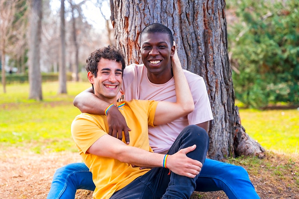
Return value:
M 90 71 L 87 73 L 89 82 L 93 84 L 94 94 L 106 102 L 116 103 L 122 84 L 121 62 L 101 58 L 97 69 L 96 77 Z

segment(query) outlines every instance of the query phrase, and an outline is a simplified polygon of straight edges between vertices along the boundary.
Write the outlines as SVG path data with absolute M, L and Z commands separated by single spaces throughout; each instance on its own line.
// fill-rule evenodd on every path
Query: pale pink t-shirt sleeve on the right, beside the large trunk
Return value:
M 196 125 L 213 120 L 213 114 L 205 81 L 202 77 L 197 77 L 198 78 L 196 78 L 196 81 L 193 81 L 192 84 L 189 83 L 194 101 L 194 111 L 187 116 L 190 125 Z

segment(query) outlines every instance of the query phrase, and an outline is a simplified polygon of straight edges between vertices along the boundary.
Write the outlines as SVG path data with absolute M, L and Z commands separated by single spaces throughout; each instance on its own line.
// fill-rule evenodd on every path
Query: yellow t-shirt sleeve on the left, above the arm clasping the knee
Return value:
M 71 134 L 77 147 L 84 154 L 89 154 L 87 150 L 100 137 L 107 134 L 100 123 L 90 114 L 78 115 L 71 125 Z

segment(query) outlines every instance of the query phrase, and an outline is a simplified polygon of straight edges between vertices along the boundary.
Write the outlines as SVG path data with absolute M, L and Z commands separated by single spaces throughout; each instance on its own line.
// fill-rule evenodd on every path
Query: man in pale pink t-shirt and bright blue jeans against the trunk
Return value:
M 170 47 L 161 41 L 161 34 L 167 34 L 169 38 L 167 42 L 172 45 L 173 34 L 166 26 L 154 23 L 142 30 L 140 53 L 144 65 L 131 65 L 126 68 L 122 87 L 126 100 L 175 99 Z M 198 125 L 208 131 L 208 121 L 213 119 L 202 77 L 188 71 L 184 71 L 184 74 L 193 96 L 195 110 L 167 125 L 149 128 L 150 146 L 154 152 L 166 153 L 176 136 L 187 125 Z M 100 102 L 92 92 L 91 89 L 83 91 L 75 98 L 74 105 L 81 112 L 104 114 L 109 104 Z M 118 108 L 109 109 L 107 120 L 109 134 L 119 139 L 124 136 L 126 143 L 129 143 L 130 124 L 126 124 Z M 94 188 L 88 167 L 84 163 L 73 163 L 57 169 L 50 193 L 57 192 L 57 198 L 74 198 L 76 189 L 94 190 Z M 245 169 L 208 158 L 196 180 L 195 190 L 200 192 L 223 190 L 228 198 L 259 198 Z

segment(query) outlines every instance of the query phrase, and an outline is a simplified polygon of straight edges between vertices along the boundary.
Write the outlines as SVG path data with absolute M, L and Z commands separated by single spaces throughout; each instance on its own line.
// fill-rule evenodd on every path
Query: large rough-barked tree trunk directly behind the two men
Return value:
M 207 85 L 214 116 L 208 132 L 209 156 L 219 160 L 243 154 L 235 152 L 240 144 L 238 139 L 234 143 L 235 128 L 240 124 L 236 123 L 238 112 L 227 51 L 225 1 L 111 0 L 110 6 L 116 45 L 125 54 L 127 64 L 141 62 L 139 34 L 146 25 L 162 23 L 173 31 L 183 68 L 202 76 Z M 259 147 L 241 144 L 243 148 L 246 145 L 246 151 L 255 151 L 248 154 L 263 156 L 258 143 Z

